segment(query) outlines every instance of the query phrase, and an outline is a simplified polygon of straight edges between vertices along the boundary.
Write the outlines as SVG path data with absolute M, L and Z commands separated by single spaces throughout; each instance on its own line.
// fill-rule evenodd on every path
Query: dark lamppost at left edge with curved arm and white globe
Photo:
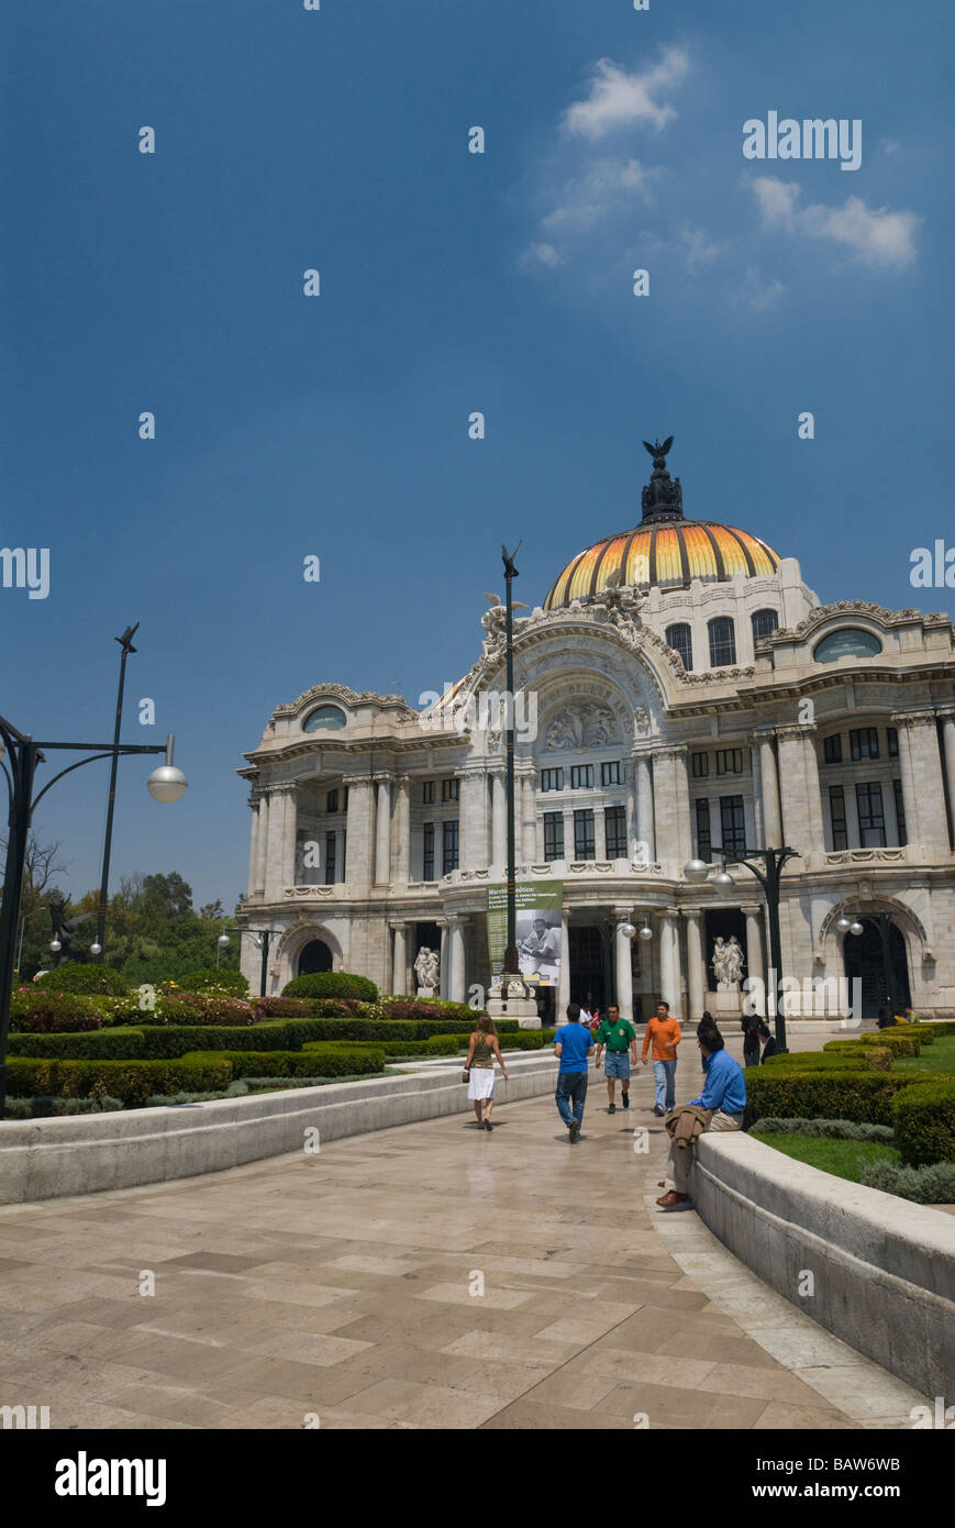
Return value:
M 122 639 L 118 639 L 122 640 Z M 125 649 L 124 649 L 125 657 Z M 95 764 L 96 759 L 113 759 L 113 782 L 116 759 L 127 753 L 165 753 L 165 764 L 154 769 L 147 781 L 150 796 L 154 801 L 171 802 L 186 790 L 186 778 L 173 764 L 174 738 L 170 735 L 162 743 L 38 743 L 29 733 L 20 732 L 12 723 L 0 717 L 0 767 L 6 776 L 9 795 L 9 817 L 6 839 L 6 876 L 3 882 L 3 906 L 0 908 L 0 1118 L 6 1103 L 6 1036 L 9 1030 L 11 983 L 17 953 L 17 923 L 20 918 L 20 895 L 23 889 L 23 866 L 26 862 L 26 845 L 29 839 L 31 821 L 47 790 L 84 764 Z M 89 753 L 90 758 L 76 759 L 66 769 L 53 775 L 43 790 L 34 798 L 34 779 L 37 766 L 46 762 L 46 755 L 53 750 L 67 753 Z M 5 758 L 3 758 L 5 755 Z M 99 944 L 102 940 L 98 938 Z

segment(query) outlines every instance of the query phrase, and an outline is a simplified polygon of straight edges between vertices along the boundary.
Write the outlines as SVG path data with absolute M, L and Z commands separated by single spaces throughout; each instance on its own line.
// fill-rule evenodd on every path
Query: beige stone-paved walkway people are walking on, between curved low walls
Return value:
M 915 1392 L 656 1210 L 646 1073 L 616 1115 L 591 1074 L 573 1148 L 550 1097 L 498 1097 L 490 1135 L 0 1210 L 0 1400 L 61 1429 L 911 1426 Z

